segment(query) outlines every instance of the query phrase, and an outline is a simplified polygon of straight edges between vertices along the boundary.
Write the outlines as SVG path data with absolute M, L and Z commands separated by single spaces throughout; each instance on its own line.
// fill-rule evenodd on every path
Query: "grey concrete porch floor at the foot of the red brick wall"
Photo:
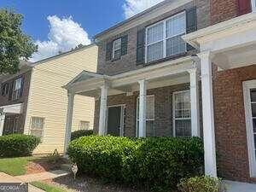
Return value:
M 228 192 L 255 192 L 256 184 L 225 181 Z

